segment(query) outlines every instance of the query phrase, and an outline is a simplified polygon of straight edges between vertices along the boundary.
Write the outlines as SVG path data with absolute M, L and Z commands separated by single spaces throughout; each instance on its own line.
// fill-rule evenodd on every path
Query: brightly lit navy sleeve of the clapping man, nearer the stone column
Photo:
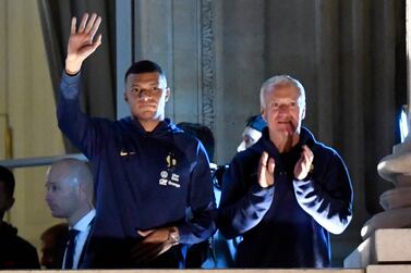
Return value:
M 318 224 L 333 234 L 346 229 L 352 218 L 352 186 L 347 167 L 336 152 L 324 176 L 294 179 L 293 185 L 300 207 Z

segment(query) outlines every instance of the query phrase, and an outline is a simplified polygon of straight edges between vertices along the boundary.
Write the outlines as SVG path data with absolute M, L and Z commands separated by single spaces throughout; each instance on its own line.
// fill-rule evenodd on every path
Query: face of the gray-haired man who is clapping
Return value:
M 305 107 L 299 100 L 300 90 L 292 85 L 268 87 L 265 92 L 265 108 L 262 113 L 270 133 L 292 136 L 300 134 Z

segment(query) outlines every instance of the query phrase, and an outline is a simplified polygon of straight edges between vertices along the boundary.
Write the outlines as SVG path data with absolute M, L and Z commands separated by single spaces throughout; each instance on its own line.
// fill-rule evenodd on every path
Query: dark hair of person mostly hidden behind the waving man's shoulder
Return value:
M 214 160 L 214 135 L 210 128 L 200 123 L 180 122 L 177 124 L 185 133 L 198 138 L 206 149 L 209 161 Z

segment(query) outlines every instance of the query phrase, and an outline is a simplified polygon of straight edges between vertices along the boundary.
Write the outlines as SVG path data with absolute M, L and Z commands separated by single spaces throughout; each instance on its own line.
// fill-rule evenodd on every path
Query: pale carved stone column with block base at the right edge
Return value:
M 392 153 L 383 158 L 378 174 L 392 183 L 394 188 L 379 197 L 385 211 L 375 214 L 361 228 L 364 240 L 344 260 L 346 268 L 364 268 L 376 263 L 410 263 L 411 249 L 411 3 L 407 1 L 407 116 L 408 135 L 392 147 Z

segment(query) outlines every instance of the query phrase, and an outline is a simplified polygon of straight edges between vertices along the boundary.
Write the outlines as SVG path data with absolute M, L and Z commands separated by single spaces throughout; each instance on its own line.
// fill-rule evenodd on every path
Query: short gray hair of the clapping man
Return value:
M 259 103 L 262 108 L 266 108 L 265 95 L 269 87 L 276 85 L 291 85 L 300 91 L 299 104 L 305 108 L 305 89 L 303 85 L 295 78 L 289 75 L 277 75 L 268 78 L 259 90 Z

